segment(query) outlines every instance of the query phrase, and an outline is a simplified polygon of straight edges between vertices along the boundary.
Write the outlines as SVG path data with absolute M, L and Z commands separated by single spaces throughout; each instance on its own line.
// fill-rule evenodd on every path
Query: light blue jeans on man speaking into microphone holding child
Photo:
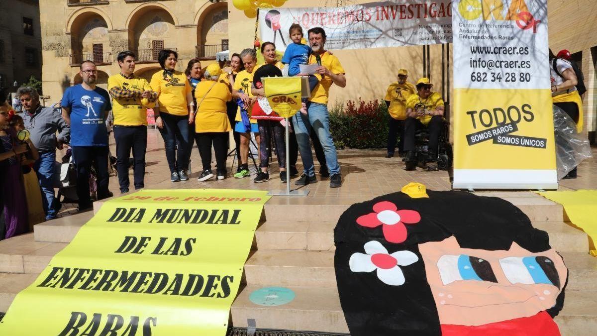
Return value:
M 315 166 L 313 165 L 313 153 L 311 152 L 311 142 L 309 133 L 311 128 L 319 137 L 321 146 L 324 148 L 325 161 L 328 164 L 328 170 L 331 175 L 340 173 L 340 164 L 338 164 L 338 155 L 336 146 L 330 133 L 330 115 L 328 106 L 320 103 L 307 102 L 307 115 L 297 113 L 293 117 L 294 133 L 297 137 L 298 151 L 303 159 L 303 172 L 307 176 L 315 175 Z

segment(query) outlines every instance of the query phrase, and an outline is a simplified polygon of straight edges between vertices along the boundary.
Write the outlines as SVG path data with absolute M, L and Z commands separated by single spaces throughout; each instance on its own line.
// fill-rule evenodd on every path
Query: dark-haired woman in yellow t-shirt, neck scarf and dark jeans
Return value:
M 195 117 L 192 87 L 183 72 L 176 71 L 179 55 L 174 50 L 161 50 L 158 54 L 162 70 L 153 74 L 151 86 L 158 93 L 155 124 L 164 138 L 166 159 L 170 167 L 170 181 L 187 181 L 191 142 L 189 124 Z M 176 151 L 178 145 L 178 151 Z

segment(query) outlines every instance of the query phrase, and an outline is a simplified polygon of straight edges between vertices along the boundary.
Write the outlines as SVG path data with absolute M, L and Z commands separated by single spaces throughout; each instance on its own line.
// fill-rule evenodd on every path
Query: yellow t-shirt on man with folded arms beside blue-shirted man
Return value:
M 113 87 L 137 90 L 140 92 L 151 90 L 149 83 L 144 78 L 134 76 L 124 78 L 121 74 L 108 78 L 108 90 Z M 147 125 L 147 108 L 153 108 L 154 103 L 140 97 L 131 99 L 116 99 L 112 97 L 112 114 L 115 125 L 140 126 Z

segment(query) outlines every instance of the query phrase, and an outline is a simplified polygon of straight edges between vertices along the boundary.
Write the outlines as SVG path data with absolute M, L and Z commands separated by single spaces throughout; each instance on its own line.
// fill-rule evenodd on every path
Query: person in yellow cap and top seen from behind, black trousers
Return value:
M 226 114 L 226 102 L 232 99 L 228 85 L 219 81 L 221 74 L 217 63 L 210 64 L 205 69 L 205 81 L 201 81 L 195 88 L 197 112 L 195 117 L 195 139 L 201 154 L 203 172 L 199 181 L 213 178 L 211 172 L 211 146 L 216 152 L 217 179 L 226 177 L 226 149 L 228 132 L 232 130 Z

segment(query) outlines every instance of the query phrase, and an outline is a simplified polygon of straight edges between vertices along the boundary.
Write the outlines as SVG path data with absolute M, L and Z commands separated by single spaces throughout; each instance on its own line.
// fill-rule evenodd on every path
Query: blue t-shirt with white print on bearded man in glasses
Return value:
M 75 85 L 64 91 L 60 105 L 70 108 L 70 146 L 108 145 L 105 120 L 112 105 L 106 90 Z

